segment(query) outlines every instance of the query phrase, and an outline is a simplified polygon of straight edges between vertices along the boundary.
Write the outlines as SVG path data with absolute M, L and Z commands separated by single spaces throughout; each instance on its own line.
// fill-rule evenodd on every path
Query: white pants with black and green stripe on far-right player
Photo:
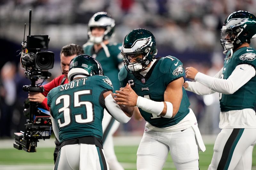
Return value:
M 221 129 L 208 170 L 250 170 L 256 129 Z

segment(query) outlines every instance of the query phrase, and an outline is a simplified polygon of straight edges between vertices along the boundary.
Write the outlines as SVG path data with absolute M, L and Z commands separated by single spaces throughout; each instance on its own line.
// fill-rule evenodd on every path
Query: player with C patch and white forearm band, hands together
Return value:
M 169 151 L 177 169 L 199 169 L 205 150 L 196 116 L 183 88 L 184 69 L 173 56 L 158 57 L 154 35 L 134 29 L 124 37 L 124 67 L 116 91 L 118 104 L 133 106 L 147 121 L 137 151 L 138 170 L 161 170 Z M 198 144 L 198 145 L 197 145 Z M 199 146 L 199 147 L 198 147 Z

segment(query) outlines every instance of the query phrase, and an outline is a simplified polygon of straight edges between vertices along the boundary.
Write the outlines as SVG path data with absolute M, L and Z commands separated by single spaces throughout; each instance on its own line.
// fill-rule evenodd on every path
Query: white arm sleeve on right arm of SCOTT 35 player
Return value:
M 121 123 L 127 123 L 131 118 L 125 115 L 123 110 L 120 108 L 120 106 L 116 103 L 116 101 L 113 99 L 112 95 L 109 94 L 105 98 L 105 106 L 107 107 L 110 114 Z

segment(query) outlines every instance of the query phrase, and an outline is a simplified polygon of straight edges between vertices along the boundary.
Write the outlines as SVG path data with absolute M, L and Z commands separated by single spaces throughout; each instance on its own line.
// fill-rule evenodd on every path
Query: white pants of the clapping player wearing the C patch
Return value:
M 138 151 L 137 170 L 162 170 L 171 153 L 177 170 L 198 170 L 198 147 L 192 127 L 177 132 L 144 131 Z

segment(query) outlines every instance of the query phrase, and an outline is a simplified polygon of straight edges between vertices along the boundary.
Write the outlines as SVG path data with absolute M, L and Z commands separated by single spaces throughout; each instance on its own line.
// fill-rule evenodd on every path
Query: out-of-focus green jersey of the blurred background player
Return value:
M 123 62 L 123 56 L 121 52 L 121 43 L 109 43 L 106 45 L 110 56 L 107 57 L 103 48 L 101 48 L 97 53 L 95 53 L 93 48 L 93 43 L 84 44 L 84 54 L 91 55 L 95 58 L 102 66 L 104 76 L 107 76 L 114 87 L 115 90 L 119 90 L 120 83 L 118 80 L 118 65 Z

